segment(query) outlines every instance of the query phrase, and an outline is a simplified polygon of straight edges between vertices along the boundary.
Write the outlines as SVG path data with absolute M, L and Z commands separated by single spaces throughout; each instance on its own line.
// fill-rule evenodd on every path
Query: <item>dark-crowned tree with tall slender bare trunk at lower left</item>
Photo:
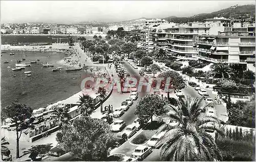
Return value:
M 16 127 L 16 158 L 19 158 L 19 138 L 23 130 L 29 127 L 31 123 L 32 108 L 20 103 L 12 103 L 6 108 L 2 109 L 2 119 L 10 118 L 15 123 Z M 27 119 L 30 119 L 28 121 Z

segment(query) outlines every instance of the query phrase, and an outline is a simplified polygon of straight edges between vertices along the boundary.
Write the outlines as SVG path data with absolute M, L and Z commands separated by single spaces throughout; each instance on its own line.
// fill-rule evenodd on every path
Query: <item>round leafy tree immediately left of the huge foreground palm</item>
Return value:
M 144 121 L 149 119 L 153 121 L 153 115 L 166 113 L 165 104 L 166 100 L 163 100 L 159 95 L 146 95 L 136 105 L 135 114 Z

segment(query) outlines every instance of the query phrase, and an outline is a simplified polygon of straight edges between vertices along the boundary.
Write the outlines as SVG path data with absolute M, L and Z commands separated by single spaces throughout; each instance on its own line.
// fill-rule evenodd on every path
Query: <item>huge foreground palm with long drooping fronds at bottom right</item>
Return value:
M 201 107 L 202 101 L 203 98 L 186 97 L 180 101 L 176 100 L 176 106 L 168 105 L 170 111 L 159 119 L 165 124 L 159 128 L 158 133 L 167 131 L 156 146 L 162 146 L 161 160 L 213 161 L 222 159 L 214 138 L 205 131 L 210 128 L 206 123 L 220 124 L 220 121 L 213 117 L 205 117 L 202 112 L 210 104 Z M 223 134 L 218 128 L 213 129 Z

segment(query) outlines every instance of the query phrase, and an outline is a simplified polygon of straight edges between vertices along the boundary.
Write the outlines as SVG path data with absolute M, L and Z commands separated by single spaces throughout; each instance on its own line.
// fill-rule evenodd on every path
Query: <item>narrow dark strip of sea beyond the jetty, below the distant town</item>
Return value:
M 48 42 L 48 43 L 62 43 L 68 42 L 67 35 L 1 35 L 1 44 L 11 44 L 14 42 L 33 43 L 33 42 Z M 72 36 L 76 40 L 80 36 Z M 93 36 L 83 36 L 87 40 L 93 39 Z M 61 39 L 59 39 L 61 38 Z M 58 42 L 57 42 L 58 41 Z

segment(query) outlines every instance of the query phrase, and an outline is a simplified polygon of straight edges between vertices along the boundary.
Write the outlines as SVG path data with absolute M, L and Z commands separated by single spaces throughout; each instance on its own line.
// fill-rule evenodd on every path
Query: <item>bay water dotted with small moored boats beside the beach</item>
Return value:
M 10 55 L 14 53 L 14 55 Z M 54 52 L 28 52 L 6 51 L 1 58 L 1 105 L 2 108 L 10 105 L 17 99 L 19 103 L 26 104 L 33 109 L 47 107 L 48 104 L 65 100 L 81 91 L 80 83 L 87 72 L 66 72 L 67 66 L 60 63 L 65 53 Z M 12 71 L 17 60 L 23 62 L 35 61 L 25 70 Z M 9 63 L 4 63 L 9 61 Z M 54 64 L 54 67 L 42 67 L 42 63 Z M 8 67 L 9 66 L 9 67 Z M 52 72 L 53 68 L 62 66 L 60 72 Z M 24 72 L 31 72 L 27 76 Z

